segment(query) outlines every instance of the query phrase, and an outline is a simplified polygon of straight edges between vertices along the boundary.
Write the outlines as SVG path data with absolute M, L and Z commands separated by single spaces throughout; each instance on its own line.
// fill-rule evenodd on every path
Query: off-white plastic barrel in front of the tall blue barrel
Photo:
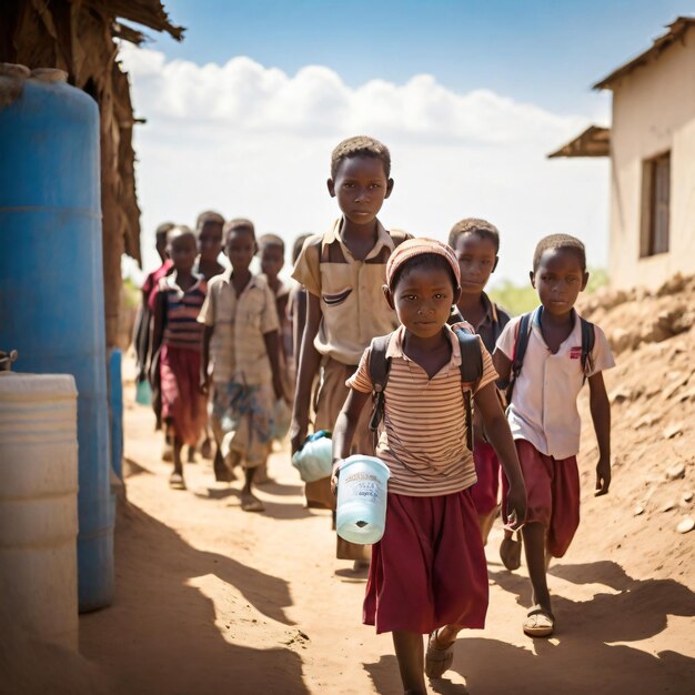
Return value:
M 78 648 L 74 379 L 0 372 L 0 614 Z

